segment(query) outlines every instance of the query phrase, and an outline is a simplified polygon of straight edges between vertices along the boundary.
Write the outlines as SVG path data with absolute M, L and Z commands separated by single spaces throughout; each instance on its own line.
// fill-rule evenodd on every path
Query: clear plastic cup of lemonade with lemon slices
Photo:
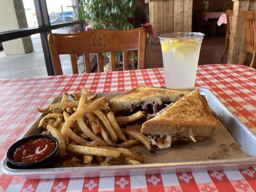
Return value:
M 203 35 L 193 38 L 191 34 L 176 33 L 178 37 L 161 37 L 165 85 L 167 88 L 194 87 L 197 63 Z M 185 34 L 186 36 L 184 37 Z M 167 36 L 164 34 L 162 36 Z M 171 34 L 172 36 L 175 33 Z M 181 36 L 183 35 L 183 36 Z

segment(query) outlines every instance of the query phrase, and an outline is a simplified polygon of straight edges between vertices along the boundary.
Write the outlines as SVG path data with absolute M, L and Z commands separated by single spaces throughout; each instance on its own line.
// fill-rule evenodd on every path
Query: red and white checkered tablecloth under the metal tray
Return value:
M 138 85 L 163 86 L 163 69 L 102 72 L 0 80 L 0 160 L 46 107 L 64 92 L 128 91 Z M 240 65 L 198 66 L 195 86 L 213 93 L 250 129 L 256 130 L 256 70 Z M 256 167 L 107 178 L 26 180 L 0 172 L 0 192 L 253 192 Z

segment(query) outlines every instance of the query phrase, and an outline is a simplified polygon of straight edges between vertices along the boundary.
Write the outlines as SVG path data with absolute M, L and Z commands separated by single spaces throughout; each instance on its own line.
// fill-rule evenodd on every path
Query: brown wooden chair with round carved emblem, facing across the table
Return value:
M 97 53 L 98 72 L 103 72 L 103 52 L 110 52 L 111 70 L 116 71 L 116 54 L 122 51 L 123 70 L 128 70 L 128 51 L 138 50 L 138 69 L 145 68 L 146 29 L 123 31 L 105 29 L 76 34 L 49 34 L 49 47 L 55 75 L 63 74 L 60 54 L 70 54 L 73 74 L 78 73 L 76 54 L 83 54 L 85 72 L 91 72 L 89 53 Z

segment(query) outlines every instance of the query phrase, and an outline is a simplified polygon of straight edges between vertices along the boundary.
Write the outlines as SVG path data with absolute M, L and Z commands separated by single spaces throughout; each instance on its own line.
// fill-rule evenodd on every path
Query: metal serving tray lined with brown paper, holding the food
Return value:
M 193 88 L 185 90 L 192 91 Z M 107 177 L 119 175 L 141 175 L 173 172 L 230 170 L 248 168 L 256 165 L 256 135 L 251 132 L 232 112 L 227 109 L 213 93 L 206 88 L 199 88 L 201 95 L 206 96 L 208 105 L 219 119 L 219 127 L 204 142 L 188 143 L 172 146 L 170 149 L 158 150 L 151 154 L 143 146 L 135 146 L 131 150 L 142 152 L 146 164 L 117 165 L 106 167 L 79 168 L 10 168 L 6 157 L 1 162 L 3 173 L 30 179 Z M 121 93 L 98 94 L 108 99 Z M 56 97 L 51 103 L 56 103 Z M 23 137 L 39 133 L 40 115 Z

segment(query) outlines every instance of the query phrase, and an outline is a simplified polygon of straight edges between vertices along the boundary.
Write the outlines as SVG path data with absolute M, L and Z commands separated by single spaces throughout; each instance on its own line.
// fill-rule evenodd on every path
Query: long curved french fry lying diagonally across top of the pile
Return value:
M 102 105 L 102 103 L 106 102 L 107 99 L 106 97 L 100 97 L 97 100 L 95 100 L 92 104 L 89 106 L 78 110 L 74 112 L 63 124 L 62 129 L 61 129 L 61 135 L 65 138 L 67 136 L 67 132 L 70 129 L 70 125 L 80 116 L 83 116 L 87 113 L 90 113 L 98 108 L 98 106 Z M 65 138 L 66 139 L 66 138 Z

